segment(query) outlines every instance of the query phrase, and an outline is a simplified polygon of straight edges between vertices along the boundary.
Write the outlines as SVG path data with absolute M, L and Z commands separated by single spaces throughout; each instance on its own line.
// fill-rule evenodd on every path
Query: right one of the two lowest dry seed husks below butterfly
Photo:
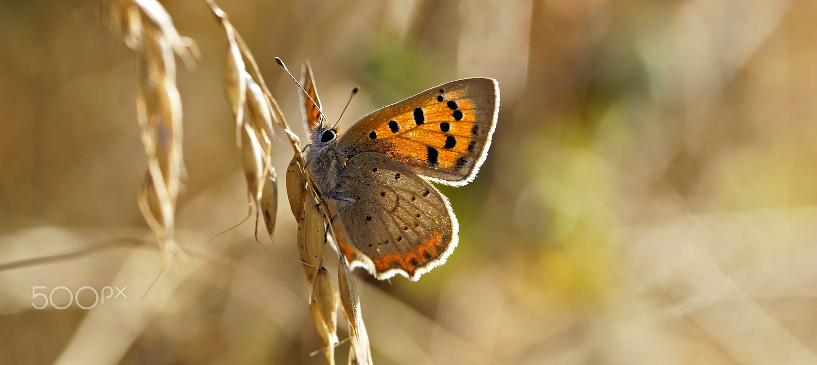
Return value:
M 346 323 L 349 325 L 351 350 L 349 351 L 349 363 L 372 363 L 372 350 L 368 344 L 368 333 L 363 323 L 363 316 L 360 314 L 360 297 L 357 293 L 355 278 L 349 271 L 346 258 L 340 256 L 340 263 L 337 265 L 337 287 L 341 297 L 341 309 Z

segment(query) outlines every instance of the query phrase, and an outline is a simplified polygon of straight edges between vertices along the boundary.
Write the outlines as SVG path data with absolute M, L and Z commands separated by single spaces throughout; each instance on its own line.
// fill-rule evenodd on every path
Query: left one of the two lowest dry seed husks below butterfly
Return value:
M 329 363 L 335 363 L 337 345 L 337 305 L 340 298 L 337 288 L 326 268 L 320 268 L 315 276 L 310 299 L 310 314 L 315 333 Z

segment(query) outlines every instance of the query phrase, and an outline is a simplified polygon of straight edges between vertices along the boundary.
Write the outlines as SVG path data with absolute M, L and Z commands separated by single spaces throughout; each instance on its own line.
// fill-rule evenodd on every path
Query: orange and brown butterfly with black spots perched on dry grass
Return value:
M 306 166 L 337 215 L 337 247 L 350 267 L 411 281 L 442 265 L 458 243 L 448 198 L 429 181 L 471 182 L 488 154 L 499 109 L 493 78 L 463 78 L 377 109 L 342 132 L 320 112 L 303 67 L 309 124 Z

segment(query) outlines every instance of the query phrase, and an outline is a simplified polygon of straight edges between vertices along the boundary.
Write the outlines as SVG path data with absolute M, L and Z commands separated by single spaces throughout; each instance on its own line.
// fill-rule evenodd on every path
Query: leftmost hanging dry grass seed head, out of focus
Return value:
M 174 239 L 176 198 L 184 175 L 181 97 L 176 88 L 174 55 L 191 69 L 198 49 L 189 38 L 179 35 L 167 11 L 154 0 L 103 4 L 109 29 L 141 56 L 136 110 L 148 168 L 138 203 L 158 239 L 164 269 L 170 256 L 186 258 Z

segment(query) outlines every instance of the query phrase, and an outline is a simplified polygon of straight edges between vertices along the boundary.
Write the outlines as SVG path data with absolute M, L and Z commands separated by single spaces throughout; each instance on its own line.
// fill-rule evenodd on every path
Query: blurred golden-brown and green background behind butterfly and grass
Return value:
M 202 55 L 177 64 L 191 257 L 143 299 L 161 259 L 136 206 L 137 56 L 96 1 L 0 2 L 0 363 L 327 362 L 300 264 L 252 220 L 213 238 L 248 211 L 225 38 L 204 2 L 163 5 Z M 448 263 L 417 283 L 355 271 L 375 363 L 817 363 L 817 2 L 220 5 L 301 138 L 274 56 L 310 60 L 330 120 L 362 87 L 344 127 L 499 82 L 480 175 L 440 187 L 460 221 Z M 259 237 L 297 257 L 276 149 L 275 243 Z M 33 308 L 86 286 L 127 298 Z

